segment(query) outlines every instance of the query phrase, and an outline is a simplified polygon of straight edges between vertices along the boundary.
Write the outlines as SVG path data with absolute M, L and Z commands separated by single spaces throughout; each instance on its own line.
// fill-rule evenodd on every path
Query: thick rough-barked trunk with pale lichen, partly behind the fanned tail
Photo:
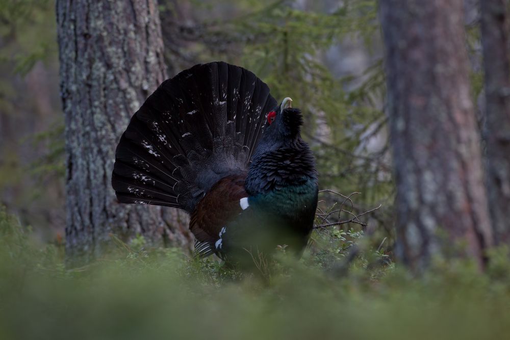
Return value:
M 109 233 L 152 244 L 188 243 L 187 216 L 118 204 L 115 147 L 130 117 L 165 79 L 156 0 L 57 1 L 67 161 L 66 255 L 89 260 Z

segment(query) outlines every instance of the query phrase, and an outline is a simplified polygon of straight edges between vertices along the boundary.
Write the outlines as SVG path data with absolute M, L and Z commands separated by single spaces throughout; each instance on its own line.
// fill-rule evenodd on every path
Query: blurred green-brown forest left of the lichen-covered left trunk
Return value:
M 54 239 L 64 205 L 55 0 L 0 0 L 0 201 Z

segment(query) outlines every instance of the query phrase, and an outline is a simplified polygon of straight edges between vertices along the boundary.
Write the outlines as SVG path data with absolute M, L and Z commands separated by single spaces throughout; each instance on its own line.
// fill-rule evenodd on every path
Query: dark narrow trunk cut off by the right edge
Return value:
M 487 185 L 496 243 L 510 244 L 510 51 L 506 0 L 480 2 L 485 68 Z

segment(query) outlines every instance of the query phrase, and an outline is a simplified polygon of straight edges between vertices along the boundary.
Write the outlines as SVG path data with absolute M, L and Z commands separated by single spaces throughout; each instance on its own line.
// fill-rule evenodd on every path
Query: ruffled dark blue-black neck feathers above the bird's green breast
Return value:
M 266 193 L 286 186 L 317 181 L 312 150 L 298 138 L 291 145 L 257 153 L 246 177 L 245 189 L 250 195 Z

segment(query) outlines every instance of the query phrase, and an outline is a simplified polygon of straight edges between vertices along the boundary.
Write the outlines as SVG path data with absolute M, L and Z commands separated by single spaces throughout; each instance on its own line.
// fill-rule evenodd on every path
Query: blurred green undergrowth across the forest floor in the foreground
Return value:
M 355 261 L 334 275 L 289 259 L 265 282 L 143 239 L 66 270 L 55 246 L 0 212 L 0 339 L 503 339 L 510 334 L 508 253 L 486 274 L 438 261 L 412 277 Z M 376 277 L 376 278 L 374 278 Z

